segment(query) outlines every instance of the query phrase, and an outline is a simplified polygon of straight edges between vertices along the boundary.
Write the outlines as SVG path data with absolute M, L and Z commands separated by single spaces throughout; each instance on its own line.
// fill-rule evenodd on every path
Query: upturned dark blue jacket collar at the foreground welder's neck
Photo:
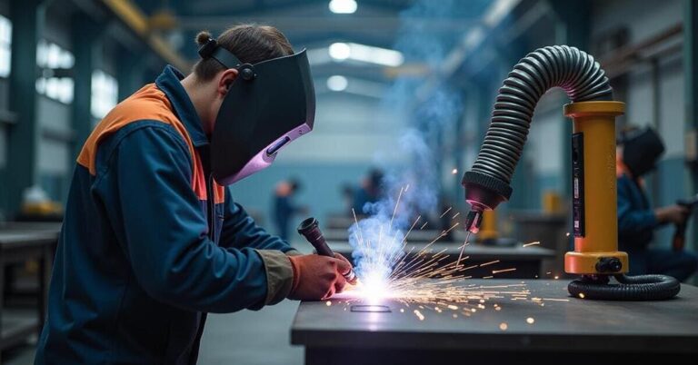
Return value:
M 192 104 L 189 95 L 186 94 L 184 86 L 182 86 L 182 79 L 184 79 L 184 74 L 168 64 L 165 66 L 163 73 L 155 79 L 155 85 L 157 85 L 157 88 L 162 90 L 167 96 L 167 99 L 170 100 L 173 108 L 175 108 L 175 113 L 182 123 L 184 123 L 186 132 L 189 133 L 189 138 L 192 139 L 194 147 L 200 147 L 209 143 L 208 138 L 204 133 L 199 114 L 196 113 L 194 104 Z

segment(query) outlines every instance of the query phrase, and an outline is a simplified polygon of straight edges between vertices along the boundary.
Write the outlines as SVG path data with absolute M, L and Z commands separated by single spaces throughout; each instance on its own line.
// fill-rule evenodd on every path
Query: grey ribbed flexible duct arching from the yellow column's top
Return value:
M 573 102 L 613 99 L 608 78 L 590 54 L 567 45 L 553 45 L 526 55 L 499 89 L 490 128 L 464 182 L 490 180 L 485 183 L 509 198 L 508 184 L 521 158 L 533 110 L 553 87 L 563 88 Z

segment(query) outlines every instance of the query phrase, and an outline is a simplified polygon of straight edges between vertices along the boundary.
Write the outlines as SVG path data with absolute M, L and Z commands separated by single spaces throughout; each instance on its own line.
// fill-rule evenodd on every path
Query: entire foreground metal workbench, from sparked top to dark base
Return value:
M 306 365 L 695 364 L 698 359 L 698 288 L 683 285 L 670 301 L 589 301 L 570 298 L 562 280 L 458 285 L 508 291 L 497 288 L 522 283 L 516 291 L 530 291 L 524 299 L 490 298 L 469 316 L 464 304 L 458 311 L 442 305 L 439 312 L 431 304 L 420 308 L 398 300 L 372 302 L 389 312 L 355 312 L 366 303 L 350 300 L 351 291 L 335 296 L 329 306 L 304 301 L 291 342 L 304 346 Z M 470 306 L 475 303 L 480 304 Z

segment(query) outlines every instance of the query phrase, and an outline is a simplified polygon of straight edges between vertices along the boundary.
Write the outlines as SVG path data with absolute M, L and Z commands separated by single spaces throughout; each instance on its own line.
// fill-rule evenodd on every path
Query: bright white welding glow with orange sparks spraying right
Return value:
M 448 230 L 441 232 L 432 242 L 415 249 L 407 248 L 407 237 L 417 227 L 423 219 L 417 216 L 412 222 L 409 230 L 403 235 L 404 219 L 399 219 L 401 211 L 401 198 L 407 199 L 404 192 L 409 186 L 405 186 L 397 193 L 394 207 L 390 207 L 393 212 L 391 217 L 388 212 L 384 220 L 375 220 L 374 224 L 359 224 L 356 213 L 353 211 L 355 229 L 351 239 L 354 241 L 354 250 L 363 253 L 356 273 L 359 281 L 356 286 L 347 291 L 350 301 L 364 301 L 369 304 L 377 304 L 385 300 L 393 300 L 404 303 L 405 307 L 415 305 L 419 310 L 413 309 L 414 315 L 419 321 L 424 321 L 424 311 L 434 311 L 441 313 L 450 311 L 454 318 L 458 315 L 469 317 L 478 309 L 487 311 L 494 308 L 501 311 L 501 307 L 496 303 L 494 306 L 487 305 L 488 301 L 504 301 L 506 298 L 521 301 L 532 301 L 531 295 L 525 283 L 516 284 L 494 284 L 477 285 L 464 284 L 464 281 L 472 278 L 465 275 L 468 270 L 477 267 L 493 265 L 499 260 L 484 262 L 482 264 L 464 265 L 464 261 L 469 256 L 463 255 L 464 246 L 468 245 L 469 236 L 461 247 L 461 254 L 457 261 L 448 261 L 449 254 L 444 248 L 434 252 L 433 245 L 441 240 L 448 232 L 459 226 L 459 222 L 454 222 Z M 408 204 L 405 201 L 404 206 Z M 442 217 L 453 208 L 449 207 L 443 212 Z M 457 213 L 453 218 L 457 217 Z M 370 219 L 370 218 L 369 218 Z M 364 221 L 361 221 L 364 223 Z M 426 227 L 424 220 L 420 229 Z M 492 273 L 515 271 L 516 268 L 493 270 Z M 489 276 L 485 278 L 493 278 Z M 331 301 L 326 301 L 326 305 L 332 305 Z M 344 308 L 345 309 L 345 308 Z M 401 309 L 401 312 L 405 312 Z M 444 313 L 445 314 L 445 313 Z

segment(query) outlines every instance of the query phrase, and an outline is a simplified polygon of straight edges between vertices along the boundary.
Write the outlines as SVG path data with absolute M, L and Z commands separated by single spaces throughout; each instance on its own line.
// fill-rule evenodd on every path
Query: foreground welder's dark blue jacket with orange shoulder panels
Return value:
M 207 172 L 182 78 L 166 67 L 85 143 L 35 363 L 195 363 L 206 312 L 256 310 L 290 291 L 286 254 L 297 252 Z

